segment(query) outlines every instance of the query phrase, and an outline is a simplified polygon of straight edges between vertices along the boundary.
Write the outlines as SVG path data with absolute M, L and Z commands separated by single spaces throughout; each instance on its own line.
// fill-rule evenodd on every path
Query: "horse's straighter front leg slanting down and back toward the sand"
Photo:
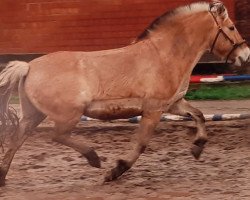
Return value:
M 136 142 L 132 152 L 126 159 L 117 161 L 117 166 L 106 174 L 106 182 L 117 179 L 133 166 L 139 156 L 145 151 L 154 129 L 160 121 L 161 114 L 162 112 L 160 111 L 143 113 L 139 129 L 136 132 Z

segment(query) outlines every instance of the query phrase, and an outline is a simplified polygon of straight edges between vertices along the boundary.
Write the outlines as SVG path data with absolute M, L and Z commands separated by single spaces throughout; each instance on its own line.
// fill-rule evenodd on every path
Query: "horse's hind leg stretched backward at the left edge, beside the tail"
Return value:
M 5 153 L 0 166 L 0 186 L 3 186 L 5 184 L 5 177 L 9 171 L 15 153 L 28 138 L 32 130 L 46 117 L 29 102 L 24 94 L 21 94 L 20 98 L 22 116 L 17 132 L 11 137 L 8 150 Z

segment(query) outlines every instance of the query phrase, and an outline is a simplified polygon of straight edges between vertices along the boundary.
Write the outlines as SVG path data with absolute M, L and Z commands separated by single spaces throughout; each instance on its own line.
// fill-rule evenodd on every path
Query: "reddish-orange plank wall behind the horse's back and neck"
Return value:
M 194 0 L 1 0 L 0 54 L 129 44 L 157 16 Z M 234 0 L 224 1 L 234 16 Z

